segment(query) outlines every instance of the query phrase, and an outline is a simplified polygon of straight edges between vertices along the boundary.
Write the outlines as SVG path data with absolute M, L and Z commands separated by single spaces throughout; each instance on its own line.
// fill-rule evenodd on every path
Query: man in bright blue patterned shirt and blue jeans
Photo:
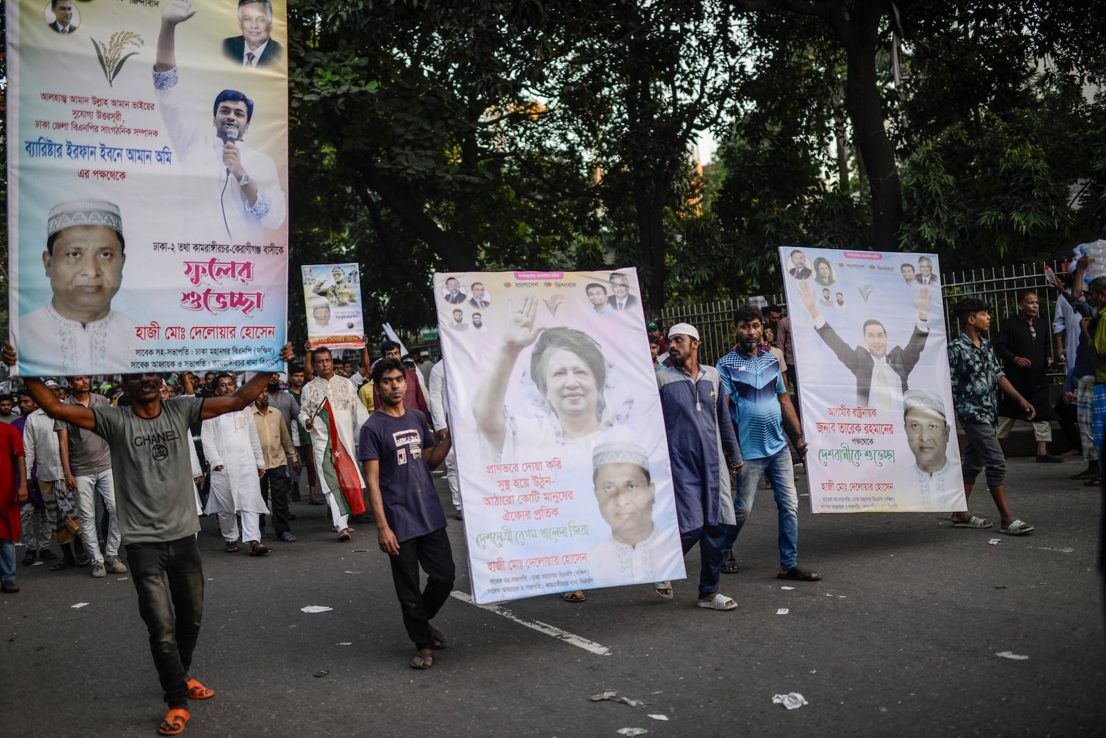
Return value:
M 780 362 L 771 352 L 760 347 L 764 325 L 761 313 L 753 305 L 744 305 L 733 313 L 737 347 L 718 362 L 722 386 L 730 397 L 730 413 L 738 426 L 738 440 L 745 458 L 745 466 L 738 475 L 733 511 L 735 524 L 726 537 L 726 561 L 722 571 L 737 573 L 738 562 L 733 544 L 745 519 L 753 509 L 757 487 L 766 476 L 775 493 L 780 511 L 780 579 L 814 582 L 822 575 L 801 569 L 799 559 L 799 495 L 795 491 L 794 468 L 787 437 L 781 420 L 794 433 L 795 448 L 806 453 L 799 416 L 787 396 L 787 387 L 780 373 Z

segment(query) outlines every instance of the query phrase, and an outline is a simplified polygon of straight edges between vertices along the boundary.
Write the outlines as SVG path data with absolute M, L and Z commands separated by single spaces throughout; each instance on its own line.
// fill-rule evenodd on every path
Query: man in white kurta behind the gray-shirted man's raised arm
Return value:
M 220 374 L 216 377 L 216 394 L 232 395 L 234 377 Z M 269 512 L 261 498 L 258 481 L 265 471 L 258 427 L 253 424 L 253 409 L 227 413 L 204 420 L 200 426 L 204 456 L 211 465 L 211 496 L 207 512 L 218 513 L 219 528 L 227 540 L 227 550 L 237 551 L 238 523 L 242 519 L 242 541 L 249 543 L 250 555 L 268 553 L 261 545 L 260 514 Z

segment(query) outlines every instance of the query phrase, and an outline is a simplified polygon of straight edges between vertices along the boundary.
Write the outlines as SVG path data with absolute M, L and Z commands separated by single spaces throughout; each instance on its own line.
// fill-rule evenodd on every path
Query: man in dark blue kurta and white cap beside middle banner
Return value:
M 699 544 L 699 606 L 733 610 L 737 603 L 718 593 L 718 580 L 727 526 L 734 521 L 730 476 L 741 468 L 741 448 L 718 370 L 699 364 L 699 331 L 688 323 L 674 325 L 668 331 L 668 354 L 672 366 L 657 371 L 657 386 L 684 553 Z M 661 596 L 671 596 L 668 582 L 656 586 Z

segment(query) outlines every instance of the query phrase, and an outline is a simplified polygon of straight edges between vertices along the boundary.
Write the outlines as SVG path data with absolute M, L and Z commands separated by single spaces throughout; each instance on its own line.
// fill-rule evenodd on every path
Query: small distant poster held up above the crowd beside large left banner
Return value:
M 359 264 L 312 264 L 301 268 L 307 341 L 312 349 L 361 349 L 365 324 Z

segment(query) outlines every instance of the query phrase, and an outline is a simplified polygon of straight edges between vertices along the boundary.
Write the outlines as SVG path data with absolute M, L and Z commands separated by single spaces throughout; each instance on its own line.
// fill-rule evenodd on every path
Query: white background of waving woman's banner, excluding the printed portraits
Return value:
M 479 603 L 686 575 L 637 273 L 618 273 L 627 277 L 633 300 L 626 310 L 604 314 L 588 302 L 586 287 L 602 284 L 609 294 L 612 272 L 435 274 L 449 428 L 472 595 Z M 452 292 L 447 280 L 459 283 Z M 511 311 L 528 297 L 538 302 L 536 325 L 576 329 L 598 344 L 606 373 L 604 424 L 583 438 L 565 443 L 557 437 L 560 423 L 530 376 L 531 345 L 510 373 L 502 412 L 518 435 L 512 438 L 509 430 L 500 453 L 478 430 L 473 398 L 500 355 Z M 653 520 L 659 542 L 651 547 L 651 565 L 632 578 L 620 573 L 626 570 L 614 557 L 594 550 L 612 534 L 592 480 L 592 450 L 608 441 L 645 449 L 656 487 Z

